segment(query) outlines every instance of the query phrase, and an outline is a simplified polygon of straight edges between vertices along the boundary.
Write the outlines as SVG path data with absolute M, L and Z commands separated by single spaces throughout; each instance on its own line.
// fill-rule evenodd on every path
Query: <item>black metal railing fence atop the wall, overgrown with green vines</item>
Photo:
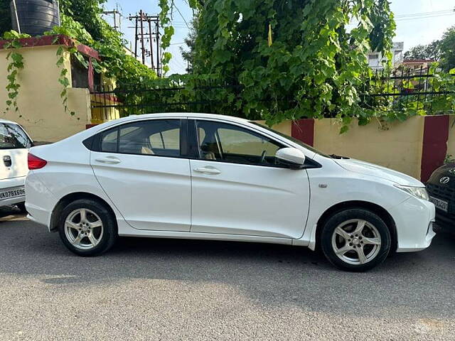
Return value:
M 451 112 L 455 96 L 453 76 L 435 74 L 423 67 L 396 70 L 392 75 L 383 70 L 376 71 L 360 89 L 360 107 L 378 112 Z M 218 80 L 162 80 L 148 86 L 98 87 L 91 94 L 92 119 L 155 112 L 208 112 L 241 116 L 240 108 L 237 108 L 237 113 L 232 112 L 232 105 L 226 101 L 231 97 L 232 104 L 232 99 L 240 98 L 241 92 L 241 85 Z M 291 99 L 282 101 L 287 104 L 292 102 Z M 330 114 L 327 116 L 330 117 Z

